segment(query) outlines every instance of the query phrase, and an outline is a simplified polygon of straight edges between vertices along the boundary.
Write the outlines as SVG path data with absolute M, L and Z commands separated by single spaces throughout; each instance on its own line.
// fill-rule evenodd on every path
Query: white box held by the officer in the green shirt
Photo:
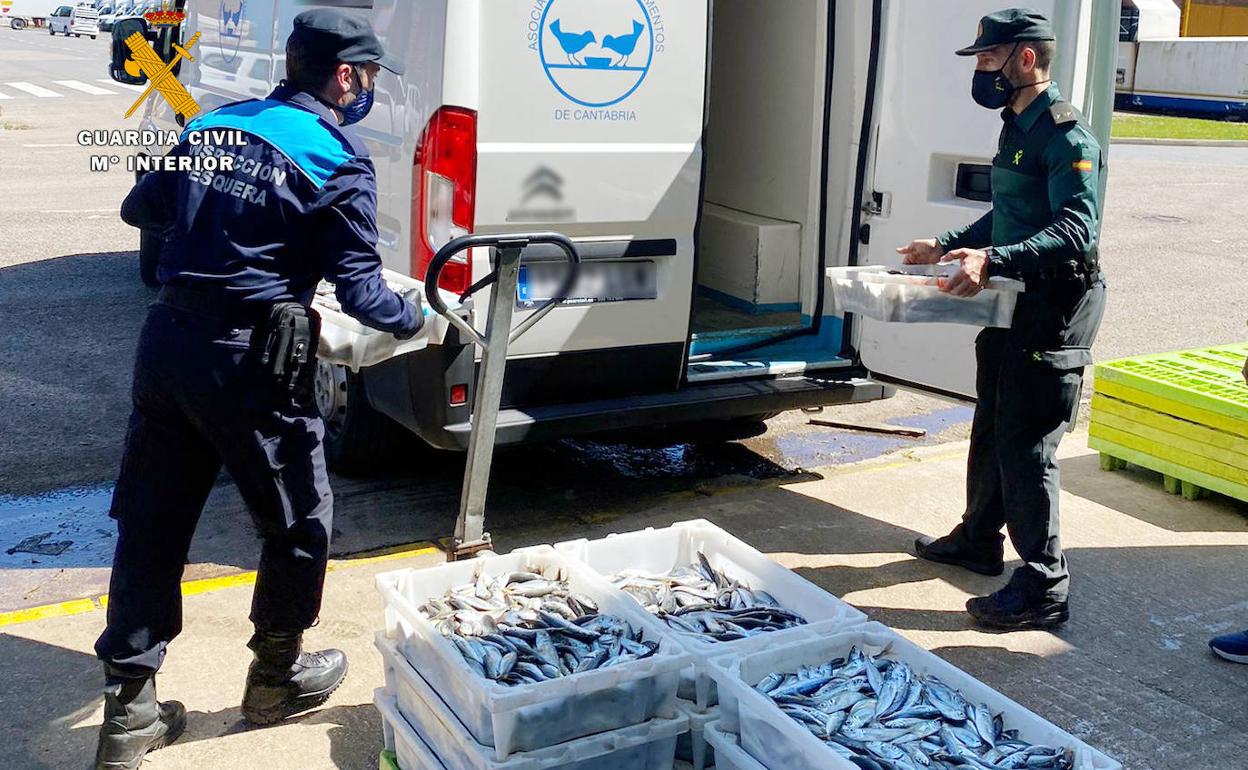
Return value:
M 832 267 L 827 270 L 827 283 L 837 314 L 860 313 L 899 323 L 1010 328 L 1018 293 L 1026 286 L 1012 278 L 988 278 L 988 286 L 976 296 L 955 297 L 940 291 L 936 282 L 956 268 L 957 265 Z

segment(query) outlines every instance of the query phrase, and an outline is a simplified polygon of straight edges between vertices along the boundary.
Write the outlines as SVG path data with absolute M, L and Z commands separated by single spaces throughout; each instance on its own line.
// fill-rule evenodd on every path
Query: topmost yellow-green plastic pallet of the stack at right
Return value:
M 1097 389 L 1101 382 L 1116 383 L 1248 422 L 1244 358 L 1248 342 L 1119 358 L 1097 364 Z

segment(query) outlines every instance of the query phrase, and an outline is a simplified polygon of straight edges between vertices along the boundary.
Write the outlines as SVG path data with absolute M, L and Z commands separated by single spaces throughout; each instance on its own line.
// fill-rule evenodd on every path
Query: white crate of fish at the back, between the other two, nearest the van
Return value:
M 630 595 L 695 654 L 700 676 L 681 683 L 681 698 L 703 708 L 715 700 L 708 691 L 709 656 L 740 655 L 866 621 L 854 607 L 701 519 L 569 540 L 555 550 Z

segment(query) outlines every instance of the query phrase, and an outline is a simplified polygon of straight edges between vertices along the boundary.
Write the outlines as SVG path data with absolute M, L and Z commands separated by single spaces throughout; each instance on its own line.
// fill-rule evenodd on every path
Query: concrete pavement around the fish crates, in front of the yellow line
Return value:
M 1062 451 L 1063 540 L 1075 574 L 1073 619 L 1057 634 L 971 629 L 965 600 L 1003 579 L 981 578 L 907 554 L 917 534 L 958 519 L 965 446 L 929 447 L 801 480 L 673 492 L 643 509 L 594 508 L 540 520 L 499 520 L 499 548 L 708 518 L 771 553 L 820 587 L 983 679 L 1132 770 L 1237 768 L 1248 755 L 1241 708 L 1248 668 L 1216 660 L 1208 636 L 1248 625 L 1242 590 L 1248 513 L 1218 498 L 1167 495 L 1147 472 L 1106 473 L 1068 437 Z M 352 675 L 326 709 L 266 730 L 245 730 L 237 704 L 247 665 L 250 590 L 186 599 L 186 629 L 160 679 L 192 716 L 187 738 L 152 756 L 180 768 L 376 766 L 381 745 L 371 695 L 381 666 L 369 636 L 381 626 L 372 575 L 427 565 L 438 555 L 346 564 L 327 582 L 312 645 L 352 656 Z M 91 644 L 100 612 L 4 629 L 0 744 L 14 768 L 86 761 L 100 718 Z

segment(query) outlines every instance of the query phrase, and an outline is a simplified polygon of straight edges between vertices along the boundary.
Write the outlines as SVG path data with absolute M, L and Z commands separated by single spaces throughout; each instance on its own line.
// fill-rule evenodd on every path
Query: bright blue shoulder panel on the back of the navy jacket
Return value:
M 266 99 L 226 105 L 191 121 L 186 132 L 205 129 L 237 129 L 256 136 L 285 155 L 318 190 L 356 157 L 342 132 L 285 101 Z

